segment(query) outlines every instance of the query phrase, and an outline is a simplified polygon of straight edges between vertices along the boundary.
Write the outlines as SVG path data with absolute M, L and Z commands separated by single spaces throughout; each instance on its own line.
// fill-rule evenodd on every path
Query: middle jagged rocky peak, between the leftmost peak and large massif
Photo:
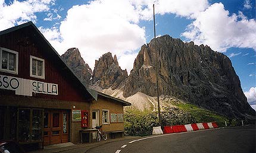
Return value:
M 110 52 L 105 53 L 95 60 L 95 68 L 92 74 L 92 84 L 97 84 L 102 89 L 111 88 L 115 90 L 123 84 L 128 77 L 127 71 L 118 66 L 117 56 L 114 58 Z

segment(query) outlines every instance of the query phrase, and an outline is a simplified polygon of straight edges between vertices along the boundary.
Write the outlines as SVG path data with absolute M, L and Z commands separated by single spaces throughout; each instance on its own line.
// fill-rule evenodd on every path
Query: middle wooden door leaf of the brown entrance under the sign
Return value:
M 51 111 L 51 135 L 50 144 L 60 144 L 61 143 L 61 111 L 52 110 Z

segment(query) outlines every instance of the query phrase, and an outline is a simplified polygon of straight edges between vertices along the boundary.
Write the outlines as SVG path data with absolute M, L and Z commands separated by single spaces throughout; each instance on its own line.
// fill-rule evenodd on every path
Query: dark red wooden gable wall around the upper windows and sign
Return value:
M 35 81 L 58 84 L 58 95 L 33 93 L 33 97 L 65 100 L 86 101 L 85 90 L 80 90 L 74 77 L 71 79 L 58 56 L 51 47 L 42 41 L 39 34 L 32 26 L 21 28 L 0 36 L 0 47 L 18 52 L 18 75 L 1 72 L 0 75 L 14 76 L 17 78 L 32 79 Z M 45 60 L 45 79 L 30 77 L 30 55 Z M 0 90 L 0 95 L 14 95 L 15 91 Z M 86 93 L 88 95 L 88 93 Z

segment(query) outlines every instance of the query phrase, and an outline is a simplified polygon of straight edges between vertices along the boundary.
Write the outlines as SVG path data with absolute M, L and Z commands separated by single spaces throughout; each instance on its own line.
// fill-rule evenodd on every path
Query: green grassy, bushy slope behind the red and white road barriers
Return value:
M 230 120 L 210 110 L 201 109 L 193 104 L 177 100 L 168 101 L 161 110 L 162 126 L 185 125 L 191 123 L 217 122 L 219 127 L 236 125 L 236 120 Z M 139 110 L 129 107 L 124 113 L 124 128 L 126 135 L 145 136 L 152 134 L 152 127 L 158 126 L 158 114 L 152 110 Z

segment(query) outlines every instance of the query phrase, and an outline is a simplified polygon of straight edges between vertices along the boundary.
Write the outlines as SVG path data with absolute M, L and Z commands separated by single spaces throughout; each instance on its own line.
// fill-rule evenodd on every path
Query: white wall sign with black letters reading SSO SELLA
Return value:
M 58 95 L 58 84 L 5 75 L 0 75 L 0 89 L 15 90 L 17 95 L 32 96 L 32 93 Z

